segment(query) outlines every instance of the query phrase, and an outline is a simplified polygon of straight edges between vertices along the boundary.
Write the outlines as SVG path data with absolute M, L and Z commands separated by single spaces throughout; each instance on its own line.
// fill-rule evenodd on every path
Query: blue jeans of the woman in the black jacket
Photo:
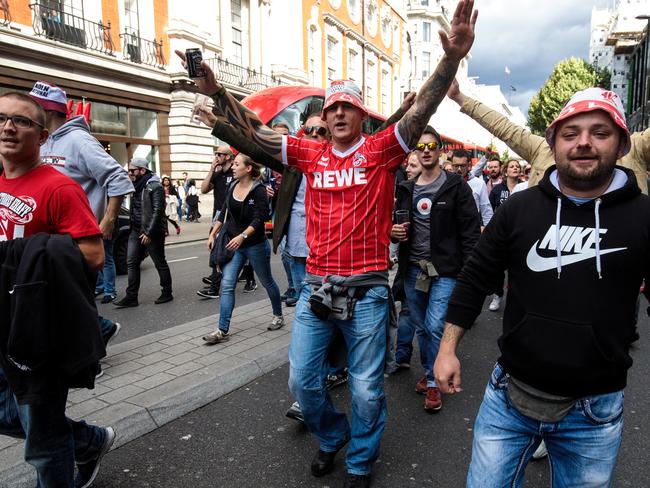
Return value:
M 260 242 L 259 244 L 237 249 L 232 259 L 223 267 L 221 278 L 221 306 L 219 308 L 219 328 L 223 332 L 228 332 L 228 329 L 230 329 L 230 318 L 235 308 L 237 277 L 244 267 L 246 259 L 250 261 L 253 270 L 271 299 L 273 315 L 282 315 L 280 289 L 271 275 L 271 247 L 269 246 L 269 242 L 264 239 L 264 242 Z

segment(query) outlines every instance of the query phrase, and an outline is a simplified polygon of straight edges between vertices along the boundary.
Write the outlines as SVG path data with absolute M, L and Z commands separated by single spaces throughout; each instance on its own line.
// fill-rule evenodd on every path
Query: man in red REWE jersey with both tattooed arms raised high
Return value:
M 332 134 L 331 144 L 272 131 L 238 104 L 206 62 L 201 65 L 206 76 L 195 80 L 227 122 L 272 158 L 297 166 L 307 177 L 309 286 L 302 287 L 293 323 L 289 388 L 320 444 L 311 464 L 314 476 L 330 473 L 337 452 L 350 442 L 346 487 L 370 486 L 386 421 L 384 360 L 394 173 L 469 52 L 477 15 L 472 11 L 472 0 L 460 0 L 450 35 L 441 34 L 445 54 L 414 105 L 397 124 L 369 137 L 362 134 L 368 110 L 361 89 L 351 80 L 333 81 L 326 92 L 322 118 Z M 184 53 L 176 53 L 185 61 Z M 335 329 L 341 330 L 348 344 L 351 424 L 325 389 L 322 366 Z

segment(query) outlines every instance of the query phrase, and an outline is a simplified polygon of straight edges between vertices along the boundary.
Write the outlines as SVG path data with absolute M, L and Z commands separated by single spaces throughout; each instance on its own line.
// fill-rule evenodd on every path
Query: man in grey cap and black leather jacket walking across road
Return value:
M 120 308 L 137 307 L 140 289 L 140 263 L 145 250 L 149 252 L 162 292 L 154 301 L 156 305 L 171 302 L 172 275 L 165 259 L 165 194 L 160 178 L 149 169 L 149 162 L 133 158 L 129 162 L 129 176 L 135 186 L 131 200 L 131 232 L 127 250 L 128 281 L 126 295 L 115 303 Z

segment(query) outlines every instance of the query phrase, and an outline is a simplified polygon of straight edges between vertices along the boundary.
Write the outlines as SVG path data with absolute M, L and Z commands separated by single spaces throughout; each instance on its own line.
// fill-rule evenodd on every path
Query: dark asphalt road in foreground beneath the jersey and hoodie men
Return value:
M 642 307 L 645 310 L 645 304 Z M 616 471 L 616 487 L 650 486 L 647 449 L 650 426 L 648 318 L 639 324 L 642 339 L 634 348 L 635 364 L 626 389 L 625 434 Z M 422 409 L 413 388 L 422 374 L 416 358 L 411 370 L 386 380 L 389 417 L 373 486 L 465 486 L 472 426 L 492 365 L 497 357 L 500 313 L 484 312 L 462 343 L 464 391 L 445 397 L 438 414 Z M 299 423 L 284 417 L 291 403 L 288 368 L 257 381 L 109 453 L 96 488 L 114 487 L 337 487 L 345 471 L 321 479 L 309 462 L 317 444 Z M 342 387 L 332 392 L 347 409 Z M 348 409 L 349 410 L 349 409 Z M 549 486 L 546 460 L 526 471 L 527 488 Z

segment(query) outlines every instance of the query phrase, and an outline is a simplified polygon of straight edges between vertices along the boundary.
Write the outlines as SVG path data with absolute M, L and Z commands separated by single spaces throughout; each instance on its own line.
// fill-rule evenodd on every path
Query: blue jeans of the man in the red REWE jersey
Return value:
M 303 285 L 296 308 L 289 347 L 289 389 L 300 403 L 305 425 L 332 452 L 351 435 L 346 465 L 352 474 L 368 474 L 379 456 L 386 422 L 384 355 L 388 320 L 388 287 L 375 286 L 357 302 L 351 320 L 325 321 L 316 317 L 307 300 L 311 286 Z M 326 358 L 336 329 L 348 349 L 352 426 L 336 409 L 325 388 Z

